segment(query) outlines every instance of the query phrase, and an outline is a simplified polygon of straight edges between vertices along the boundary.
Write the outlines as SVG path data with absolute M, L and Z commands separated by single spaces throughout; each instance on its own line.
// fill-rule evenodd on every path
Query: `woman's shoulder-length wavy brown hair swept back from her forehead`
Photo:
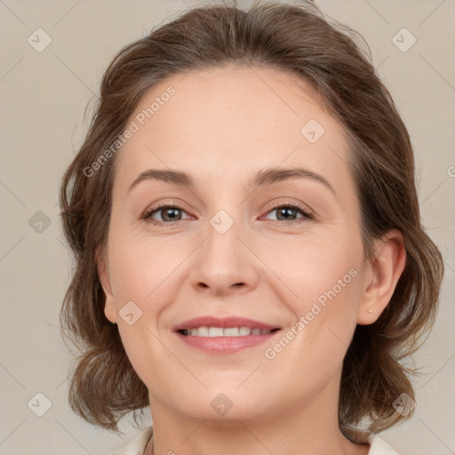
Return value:
M 176 73 L 222 67 L 229 62 L 265 65 L 299 76 L 322 96 L 346 128 L 351 172 L 362 211 L 363 244 L 389 229 L 403 233 L 406 265 L 394 295 L 376 323 L 357 325 L 345 356 L 339 425 L 355 442 L 367 419 L 377 433 L 402 416 L 395 398 L 414 398 L 399 361 L 419 347 L 435 320 L 443 277 L 440 252 L 424 232 L 414 180 L 411 140 L 387 88 L 380 82 L 358 35 L 328 20 L 308 2 L 257 2 L 247 11 L 234 4 L 195 8 L 129 44 L 110 63 L 84 144 L 60 188 L 64 233 L 76 256 L 65 295 L 62 334 L 82 350 L 71 375 L 69 402 L 92 424 L 118 431 L 129 411 L 143 413 L 148 390 L 132 369 L 116 325 L 104 315 L 96 251 L 105 248 L 116 155 L 87 176 L 85 169 L 115 142 L 144 92 Z M 362 44 L 364 45 L 364 43 Z

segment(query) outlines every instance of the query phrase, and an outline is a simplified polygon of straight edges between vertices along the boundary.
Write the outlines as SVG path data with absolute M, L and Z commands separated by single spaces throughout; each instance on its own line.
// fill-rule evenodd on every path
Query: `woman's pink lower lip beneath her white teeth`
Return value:
M 243 337 L 198 337 L 182 335 L 179 331 L 175 333 L 188 346 L 196 347 L 208 354 L 234 354 L 247 347 L 259 346 L 278 332 L 273 331 L 264 335 L 245 335 Z

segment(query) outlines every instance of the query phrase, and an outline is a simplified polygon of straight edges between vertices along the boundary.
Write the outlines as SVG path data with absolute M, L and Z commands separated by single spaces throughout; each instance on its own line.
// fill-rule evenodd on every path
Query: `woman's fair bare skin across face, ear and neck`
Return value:
M 378 239 L 375 258 L 365 259 L 344 129 L 295 76 L 237 65 L 171 76 L 145 93 L 131 120 L 169 85 L 176 93 L 116 156 L 99 256 L 106 316 L 148 387 L 155 435 L 146 453 L 368 453 L 339 431 L 339 380 L 355 325 L 376 321 L 403 272 L 402 235 Z M 325 130 L 315 143 L 300 133 L 310 119 Z M 259 170 L 295 166 L 333 191 L 308 178 L 248 186 Z M 150 168 L 188 172 L 196 186 L 144 180 L 128 192 Z M 274 210 L 289 203 L 313 218 Z M 156 225 L 141 219 L 158 204 L 179 205 L 180 221 L 166 218 L 169 210 L 155 212 Z M 220 210 L 234 221 L 222 235 L 210 224 Z M 355 278 L 268 359 L 265 349 L 350 269 Z M 132 325 L 119 315 L 131 300 L 142 311 Z M 282 331 L 259 347 L 208 355 L 172 331 L 200 315 L 241 315 Z M 224 416 L 211 406 L 220 393 L 232 403 Z

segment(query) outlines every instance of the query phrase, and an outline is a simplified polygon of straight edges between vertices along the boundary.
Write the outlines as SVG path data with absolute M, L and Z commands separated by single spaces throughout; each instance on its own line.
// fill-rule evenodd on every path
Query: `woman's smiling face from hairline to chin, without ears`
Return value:
M 333 402 L 367 267 L 342 126 L 302 81 L 241 66 L 167 78 L 131 122 L 100 275 L 152 413 Z

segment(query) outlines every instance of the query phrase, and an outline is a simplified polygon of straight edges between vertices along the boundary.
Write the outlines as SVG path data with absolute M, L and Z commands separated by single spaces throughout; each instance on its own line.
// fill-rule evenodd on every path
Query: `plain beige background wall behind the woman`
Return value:
M 455 2 L 318 4 L 357 29 L 371 46 L 409 127 L 424 222 L 447 267 L 435 331 L 416 355 L 423 370 L 414 381 L 415 416 L 382 437 L 401 455 L 449 455 L 455 453 Z M 58 188 L 86 132 L 84 108 L 114 54 L 194 5 L 189 0 L 0 0 L 1 454 L 107 455 L 136 433 L 126 420 L 121 439 L 87 424 L 68 406 L 71 358 L 60 339 L 58 315 L 72 259 L 62 243 Z M 52 37 L 44 52 L 28 44 L 36 28 Z M 392 41 L 402 28 L 417 39 L 407 52 Z M 30 400 L 37 403 L 39 392 L 52 403 L 43 417 L 28 408 Z M 44 398 L 38 402 L 30 407 L 44 410 Z

